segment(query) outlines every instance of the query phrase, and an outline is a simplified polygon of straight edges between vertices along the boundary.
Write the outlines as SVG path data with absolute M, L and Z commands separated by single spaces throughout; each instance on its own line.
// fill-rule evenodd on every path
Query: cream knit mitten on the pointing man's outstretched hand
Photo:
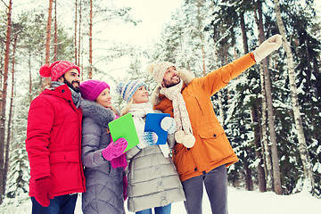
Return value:
M 277 50 L 282 45 L 282 36 L 276 34 L 269 37 L 261 45 L 259 45 L 252 53 L 256 62 L 260 62 L 266 58 L 270 53 Z

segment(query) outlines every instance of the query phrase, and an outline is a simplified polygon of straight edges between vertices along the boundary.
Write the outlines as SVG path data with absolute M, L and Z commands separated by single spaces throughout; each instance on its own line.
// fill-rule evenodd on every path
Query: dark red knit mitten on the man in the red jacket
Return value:
M 43 207 L 48 207 L 53 199 L 53 185 L 50 177 L 41 177 L 35 180 L 35 199 Z

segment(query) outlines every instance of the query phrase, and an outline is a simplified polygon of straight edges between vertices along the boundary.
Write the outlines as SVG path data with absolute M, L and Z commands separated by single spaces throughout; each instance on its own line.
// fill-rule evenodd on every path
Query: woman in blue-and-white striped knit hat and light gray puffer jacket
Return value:
M 154 132 L 144 132 L 145 116 L 154 113 L 148 103 L 148 92 L 144 82 L 139 80 L 119 84 L 117 92 L 128 104 L 121 115 L 133 115 L 139 144 L 126 152 L 128 165 L 128 210 L 140 213 L 168 214 L 172 202 L 185 201 L 185 193 L 169 151 L 174 147 L 174 137 L 168 144 L 156 144 Z M 165 127 L 174 133 L 174 120 L 166 117 Z M 167 126 L 166 126 L 167 125 Z M 167 128 L 166 128 L 167 127 Z M 156 136 L 156 137 L 155 137 Z

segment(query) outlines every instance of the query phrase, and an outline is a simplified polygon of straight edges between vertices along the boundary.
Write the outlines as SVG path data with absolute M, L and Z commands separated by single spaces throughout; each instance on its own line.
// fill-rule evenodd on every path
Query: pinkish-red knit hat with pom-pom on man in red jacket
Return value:
M 73 63 L 68 61 L 56 61 L 53 62 L 50 66 L 47 64 L 41 66 L 39 73 L 41 77 L 51 78 L 52 81 L 57 81 L 57 79 L 62 77 L 64 73 L 72 69 L 77 69 L 80 73 L 77 65 L 74 65 Z

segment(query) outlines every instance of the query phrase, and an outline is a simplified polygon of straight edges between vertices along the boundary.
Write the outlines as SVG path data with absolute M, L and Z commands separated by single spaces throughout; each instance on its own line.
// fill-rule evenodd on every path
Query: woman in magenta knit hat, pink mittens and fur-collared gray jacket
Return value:
M 125 214 L 127 197 L 127 161 L 123 153 L 128 145 L 124 138 L 111 141 L 108 123 L 118 116 L 111 109 L 110 87 L 98 80 L 80 85 L 84 100 L 82 128 L 82 162 L 85 166 L 86 192 L 82 194 L 83 213 Z M 125 184 L 125 185 L 124 185 Z

